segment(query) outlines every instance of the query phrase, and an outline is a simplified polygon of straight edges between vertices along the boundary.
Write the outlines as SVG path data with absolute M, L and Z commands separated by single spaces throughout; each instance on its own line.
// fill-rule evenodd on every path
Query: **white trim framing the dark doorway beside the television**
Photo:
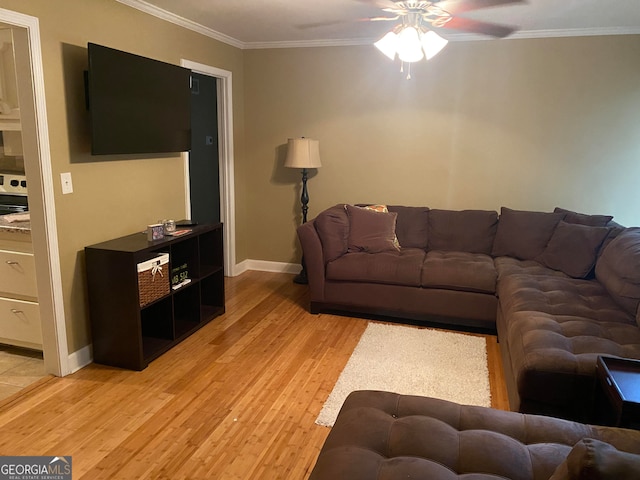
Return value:
M 210 65 L 182 60 L 180 64 L 194 73 L 215 77 L 218 107 L 218 155 L 220 183 L 220 221 L 224 224 L 224 274 L 236 275 L 236 220 L 233 149 L 233 75 Z M 185 172 L 185 215 L 191 216 L 189 155 L 183 154 Z

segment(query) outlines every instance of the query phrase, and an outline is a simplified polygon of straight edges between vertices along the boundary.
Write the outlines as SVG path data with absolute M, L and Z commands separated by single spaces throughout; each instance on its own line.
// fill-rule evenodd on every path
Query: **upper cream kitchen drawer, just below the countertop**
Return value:
M 4 296 L 38 297 L 33 254 L 0 250 L 0 292 Z

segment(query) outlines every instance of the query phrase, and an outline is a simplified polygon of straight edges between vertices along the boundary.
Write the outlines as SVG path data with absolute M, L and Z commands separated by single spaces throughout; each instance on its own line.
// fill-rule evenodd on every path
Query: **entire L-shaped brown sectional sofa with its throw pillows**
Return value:
M 640 228 L 562 209 L 387 210 L 336 205 L 299 227 L 312 312 L 497 330 L 523 413 L 589 422 L 597 356 L 640 359 Z

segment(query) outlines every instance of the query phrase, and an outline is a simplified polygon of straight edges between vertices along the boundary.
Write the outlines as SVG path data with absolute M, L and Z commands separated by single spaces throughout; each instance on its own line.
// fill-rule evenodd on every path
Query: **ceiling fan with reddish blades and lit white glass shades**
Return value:
M 481 8 L 526 3 L 526 0 L 360 0 L 375 4 L 393 16 L 369 17 L 371 22 L 397 21 L 384 37 L 374 43 L 376 48 L 391 60 L 400 58 L 402 64 L 427 60 L 437 55 L 448 43 L 436 31 L 452 29 L 504 38 L 515 27 L 487 23 L 458 14 Z M 411 70 L 407 78 L 411 78 Z

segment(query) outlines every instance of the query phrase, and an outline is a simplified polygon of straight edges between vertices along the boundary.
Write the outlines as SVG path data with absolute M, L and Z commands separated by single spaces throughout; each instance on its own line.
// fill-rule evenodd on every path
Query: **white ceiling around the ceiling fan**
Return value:
M 239 48 L 367 44 L 395 24 L 358 20 L 385 15 L 377 5 L 390 0 L 117 1 Z M 512 38 L 640 34 L 640 0 L 528 0 L 465 16 L 518 26 Z

